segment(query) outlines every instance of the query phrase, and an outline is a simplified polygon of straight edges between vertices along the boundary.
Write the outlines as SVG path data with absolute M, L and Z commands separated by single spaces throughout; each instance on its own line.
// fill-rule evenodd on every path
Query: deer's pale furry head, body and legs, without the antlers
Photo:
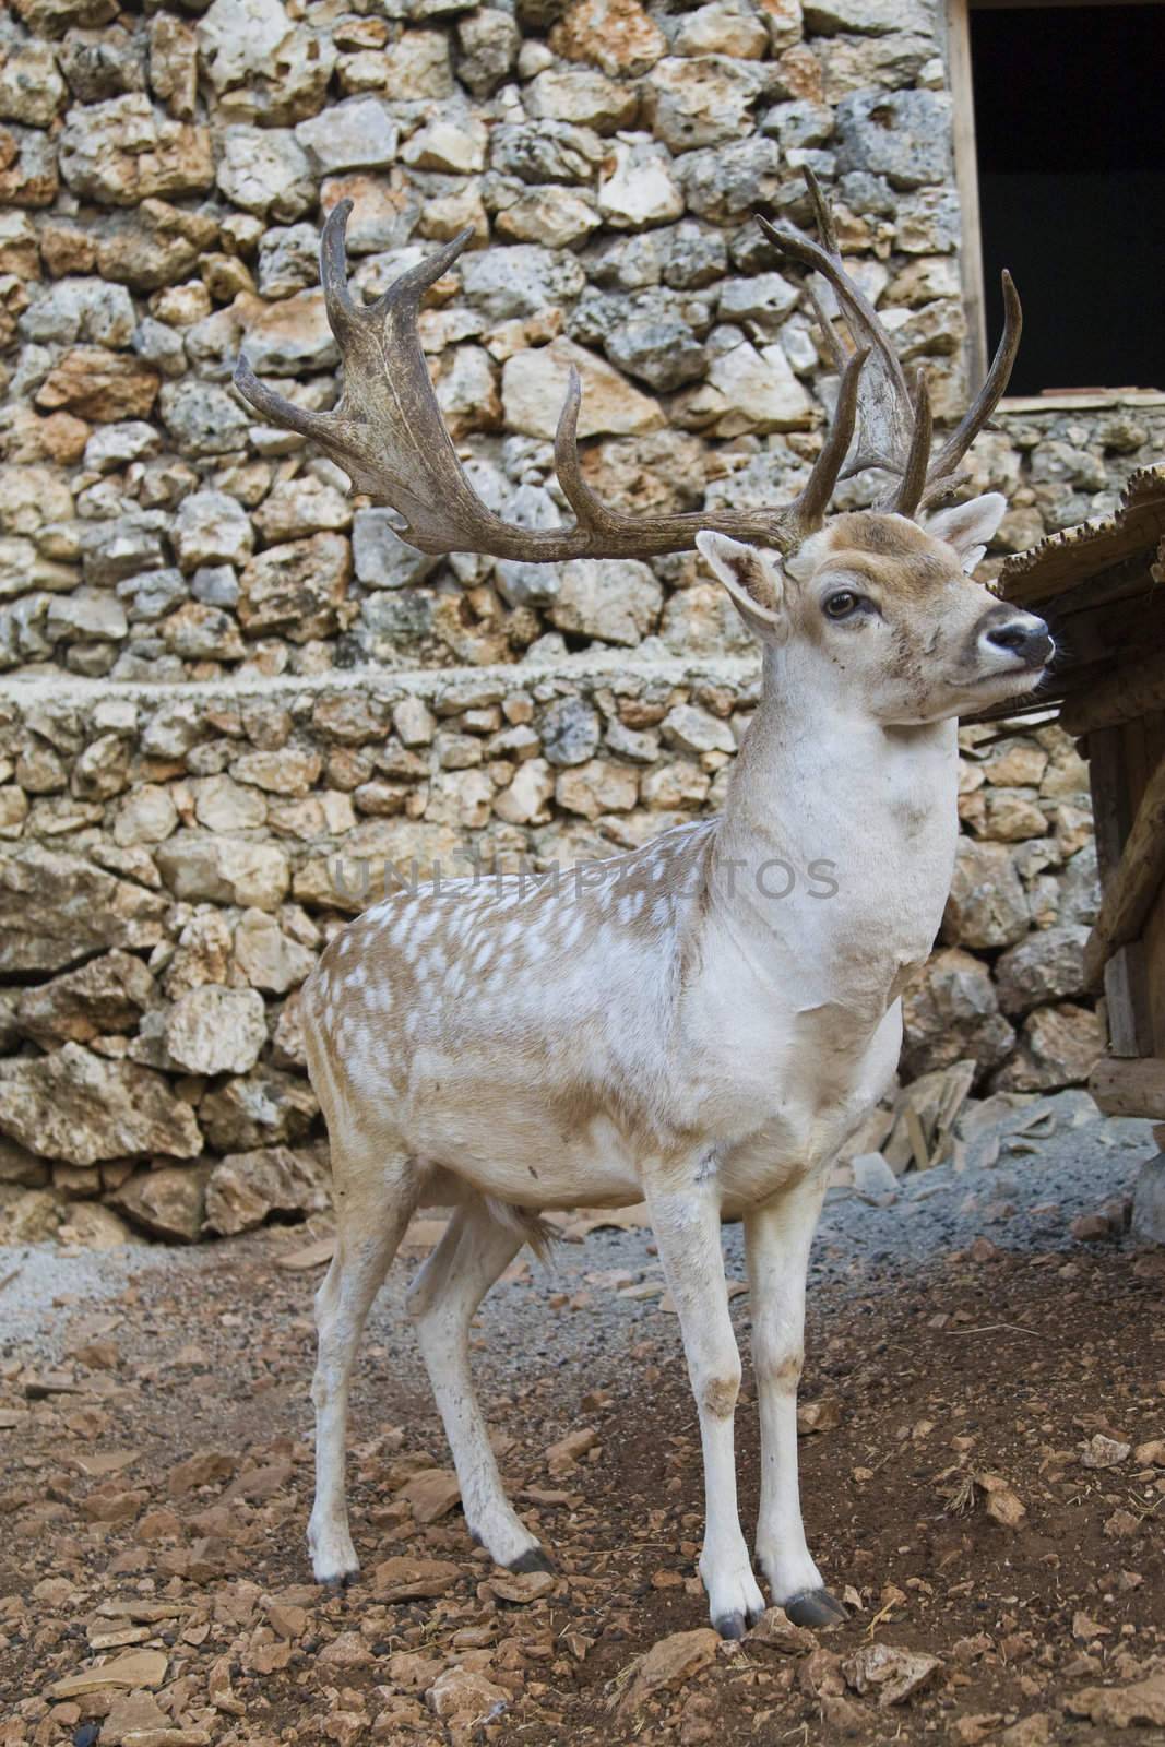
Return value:
M 737 1518 L 741 1359 L 725 1216 L 746 1221 L 758 1569 L 777 1602 L 821 1588 L 796 1483 L 809 1246 L 830 1162 L 894 1073 L 900 996 L 941 921 L 957 837 L 955 713 L 1027 685 L 1017 657 L 980 648 L 980 622 L 999 606 L 959 570 L 994 514 L 945 524 L 950 575 L 933 604 L 896 604 L 880 573 L 870 583 L 882 590 L 877 618 L 837 629 L 821 624 L 814 592 L 833 587 L 831 568 L 845 575 L 828 533 L 784 568 L 700 535 L 765 645 L 762 701 L 723 818 L 613 858 L 597 879 L 564 879 L 557 893 L 491 880 L 468 905 L 445 884 L 440 900 L 402 894 L 353 922 L 341 952 L 355 942 L 369 1008 L 391 1012 L 379 1024 L 391 1031 L 393 1078 L 379 1088 L 377 1052 L 363 1043 L 346 1060 L 342 1024 L 337 1036 L 320 1001 L 328 964 L 306 984 L 304 1039 L 339 1216 L 318 1309 L 318 1576 L 355 1567 L 348 1378 L 412 1207 L 458 1204 L 410 1314 L 466 1518 L 510 1564 L 534 1541 L 505 1497 L 473 1399 L 470 1319 L 529 1230 L 524 1211 L 646 1200 L 700 1420 L 699 1569 L 713 1619 L 735 1626 L 763 1605 Z M 926 554 L 941 554 L 936 540 Z M 903 660 L 906 611 L 922 618 L 922 662 Z M 837 882 L 830 898 L 812 894 L 817 861 Z M 774 867 L 795 874 L 788 896 L 770 894 L 781 889 Z M 424 987 L 410 968 L 421 940 L 435 971 Z M 341 1012 L 356 977 L 346 982 Z M 393 985 L 388 1003 L 376 999 L 383 985 Z

